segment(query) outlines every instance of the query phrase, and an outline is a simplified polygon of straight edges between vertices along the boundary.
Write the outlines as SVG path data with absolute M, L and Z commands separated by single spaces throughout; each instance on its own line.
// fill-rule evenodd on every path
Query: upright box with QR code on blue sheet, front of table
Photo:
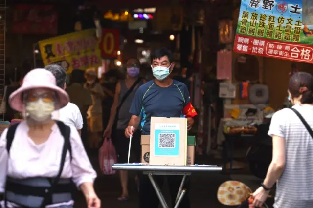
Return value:
M 186 166 L 187 119 L 151 117 L 150 164 Z

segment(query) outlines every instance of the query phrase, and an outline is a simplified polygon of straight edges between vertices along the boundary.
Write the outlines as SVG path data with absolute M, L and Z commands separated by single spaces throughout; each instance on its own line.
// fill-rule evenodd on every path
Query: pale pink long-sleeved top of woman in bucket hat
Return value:
M 64 138 L 56 124 L 51 130 L 48 140 L 36 145 L 28 136 L 29 128 L 25 121 L 21 122 L 16 129 L 9 156 L 6 149 L 7 129 L 3 131 L 0 137 L 0 192 L 4 192 L 6 176 L 23 179 L 55 177 L 58 174 Z M 90 164 L 81 137 L 74 126 L 70 126 L 70 130 L 72 159 L 67 151 L 61 178 L 72 178 L 77 187 L 85 182 L 93 183 L 97 174 Z

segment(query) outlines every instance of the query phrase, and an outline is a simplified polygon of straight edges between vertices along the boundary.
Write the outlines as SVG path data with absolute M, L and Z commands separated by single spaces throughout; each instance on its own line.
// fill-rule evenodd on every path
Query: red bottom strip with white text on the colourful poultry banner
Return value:
M 313 63 L 313 45 L 236 35 L 234 52 Z

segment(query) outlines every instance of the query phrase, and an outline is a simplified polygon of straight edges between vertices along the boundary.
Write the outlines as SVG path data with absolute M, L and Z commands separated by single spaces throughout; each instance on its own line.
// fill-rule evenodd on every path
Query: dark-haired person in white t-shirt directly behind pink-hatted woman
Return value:
M 54 75 L 57 81 L 57 85 L 65 90 L 67 86 L 67 74 L 63 67 L 57 64 L 51 64 L 45 66 L 45 69 L 50 71 Z M 76 104 L 68 103 L 60 110 L 54 111 L 52 116 L 53 119 L 60 120 L 66 125 L 74 126 L 81 135 L 81 129 L 83 128 L 83 117 Z

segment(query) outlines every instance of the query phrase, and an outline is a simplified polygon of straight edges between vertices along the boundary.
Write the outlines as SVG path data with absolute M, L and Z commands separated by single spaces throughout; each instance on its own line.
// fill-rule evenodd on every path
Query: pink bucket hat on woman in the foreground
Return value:
M 24 79 L 22 86 L 14 91 L 9 97 L 10 106 L 19 112 L 23 110 L 22 93 L 29 89 L 48 88 L 57 93 L 59 99 L 59 106 L 56 110 L 63 108 L 69 102 L 67 92 L 56 85 L 55 77 L 51 72 L 45 69 L 33 69 L 28 72 Z

